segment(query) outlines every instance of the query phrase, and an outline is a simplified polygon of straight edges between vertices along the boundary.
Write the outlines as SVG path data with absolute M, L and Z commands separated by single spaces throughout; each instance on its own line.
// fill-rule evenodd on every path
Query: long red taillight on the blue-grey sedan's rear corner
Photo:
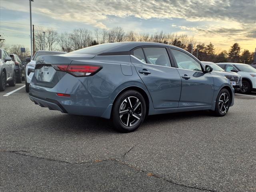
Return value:
M 64 72 L 72 74 L 73 76 L 76 76 L 76 77 L 92 76 L 92 75 L 96 74 L 99 70 L 102 69 L 102 66 L 97 66 L 97 65 L 55 64 L 52 66 L 57 71 L 64 71 Z

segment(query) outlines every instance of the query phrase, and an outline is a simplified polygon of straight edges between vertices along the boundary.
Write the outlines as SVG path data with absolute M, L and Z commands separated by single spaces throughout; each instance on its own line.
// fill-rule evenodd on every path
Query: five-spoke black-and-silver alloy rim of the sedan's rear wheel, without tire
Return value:
M 123 100 L 119 108 L 119 118 L 125 126 L 134 126 L 137 124 L 142 115 L 142 104 L 134 96 Z

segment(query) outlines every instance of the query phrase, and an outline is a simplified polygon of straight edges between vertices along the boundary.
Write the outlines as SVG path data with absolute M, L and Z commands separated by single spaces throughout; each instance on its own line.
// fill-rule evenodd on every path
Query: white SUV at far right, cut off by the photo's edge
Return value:
M 240 92 L 249 94 L 256 91 L 256 69 L 243 63 L 216 63 L 226 71 L 237 72 L 242 77 L 242 87 Z

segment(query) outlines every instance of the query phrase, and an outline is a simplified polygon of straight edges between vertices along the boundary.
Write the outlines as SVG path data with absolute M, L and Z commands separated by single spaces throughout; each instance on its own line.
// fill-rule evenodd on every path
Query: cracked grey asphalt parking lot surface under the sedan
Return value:
M 24 84 L 24 82 L 23 82 Z M 0 92 L 0 190 L 256 191 L 256 94 L 224 117 L 150 116 L 128 134 L 108 120 L 33 104 L 23 84 Z

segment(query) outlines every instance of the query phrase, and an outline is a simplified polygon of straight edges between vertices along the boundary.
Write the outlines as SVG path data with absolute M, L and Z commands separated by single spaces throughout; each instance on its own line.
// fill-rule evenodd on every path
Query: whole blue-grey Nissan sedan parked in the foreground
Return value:
M 176 46 L 119 42 L 38 56 L 29 97 L 50 110 L 112 118 L 116 130 L 131 132 L 147 115 L 212 110 L 224 116 L 234 88 Z

